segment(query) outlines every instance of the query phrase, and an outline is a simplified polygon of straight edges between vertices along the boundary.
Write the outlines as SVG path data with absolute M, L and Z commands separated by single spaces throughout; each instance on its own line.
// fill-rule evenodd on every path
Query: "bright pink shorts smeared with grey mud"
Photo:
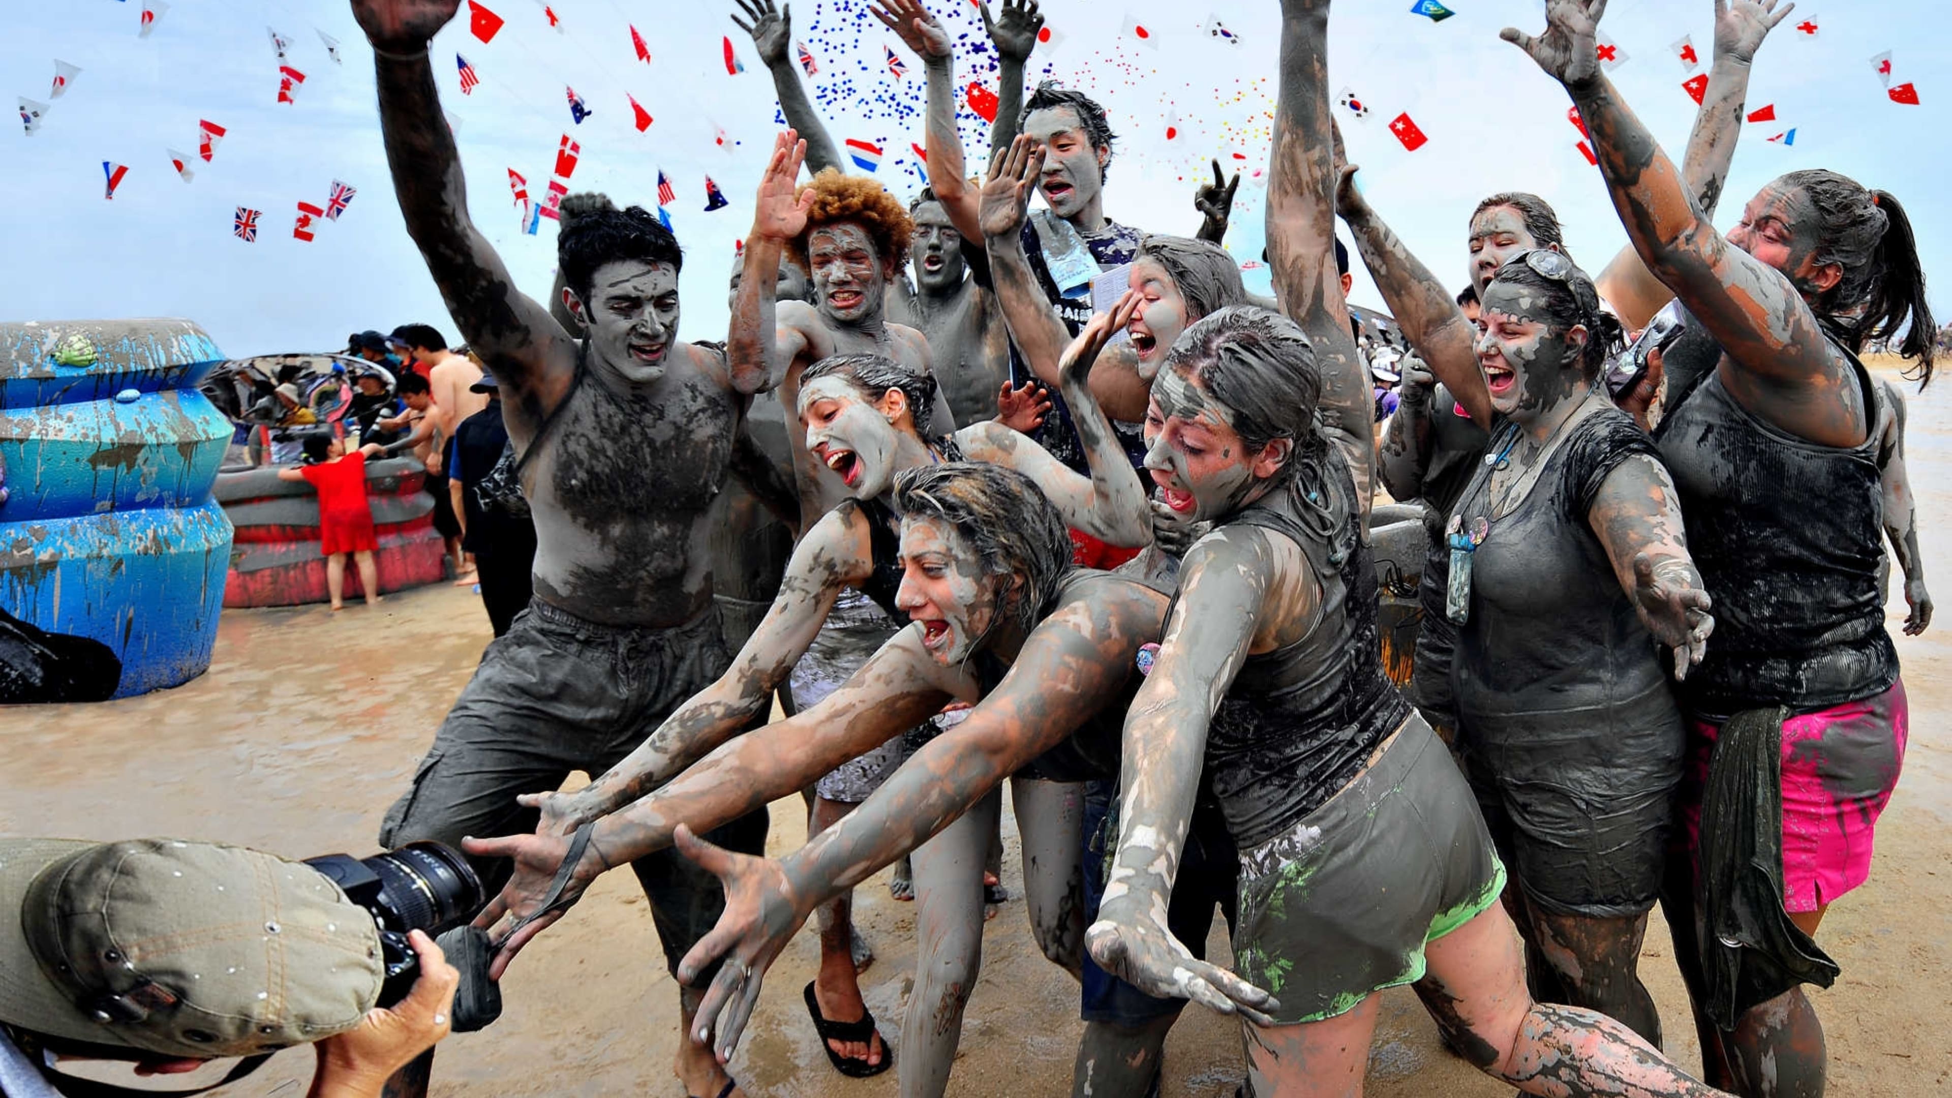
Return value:
M 1870 840 L 1905 762 L 1905 684 L 1782 723 L 1782 891 L 1817 910 L 1870 877 Z M 1681 824 L 1700 848 L 1702 787 L 1722 727 L 1688 721 Z

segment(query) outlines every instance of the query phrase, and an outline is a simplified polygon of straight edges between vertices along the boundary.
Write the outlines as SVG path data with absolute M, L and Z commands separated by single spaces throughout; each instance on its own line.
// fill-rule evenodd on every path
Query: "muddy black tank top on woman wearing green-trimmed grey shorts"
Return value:
M 1259 526 L 1294 541 L 1322 584 L 1322 619 L 1282 649 L 1241 662 L 1206 735 L 1206 774 L 1234 842 L 1247 850 L 1275 838 L 1347 785 L 1409 703 L 1382 670 L 1376 569 L 1362 543 L 1355 483 L 1335 447 L 1314 486 L 1337 492 L 1335 529 L 1322 535 L 1320 508 L 1292 477 L 1224 526 Z M 1302 522 L 1308 514 L 1310 522 Z

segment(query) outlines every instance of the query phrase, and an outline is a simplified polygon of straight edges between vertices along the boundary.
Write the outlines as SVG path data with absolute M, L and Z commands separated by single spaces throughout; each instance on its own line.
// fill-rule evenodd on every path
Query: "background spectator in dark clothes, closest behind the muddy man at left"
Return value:
M 447 490 L 455 512 L 461 514 L 461 545 L 474 555 L 488 623 L 500 637 L 508 633 L 515 615 L 529 608 L 529 598 L 535 594 L 531 580 L 535 520 L 527 508 L 515 514 L 496 500 L 482 500 L 482 481 L 508 453 L 508 426 L 502 422 L 502 391 L 492 373 L 482 371 L 470 391 L 482 395 L 488 406 L 455 428 Z

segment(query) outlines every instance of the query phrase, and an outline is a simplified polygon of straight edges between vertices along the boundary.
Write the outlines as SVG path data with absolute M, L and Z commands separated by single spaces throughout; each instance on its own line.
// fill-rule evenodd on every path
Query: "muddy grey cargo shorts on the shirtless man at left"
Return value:
M 414 783 L 386 811 L 379 842 L 394 848 L 431 838 L 529 834 L 539 813 L 517 793 L 556 789 L 572 770 L 591 778 L 630 754 L 687 697 L 728 666 L 718 613 L 673 629 L 586 621 L 541 600 L 482 653 L 474 678 L 433 735 Z M 765 809 L 705 832 L 705 838 L 765 854 Z M 508 881 L 504 860 L 478 860 L 488 895 Z M 630 864 L 644 885 L 666 965 L 703 938 L 724 910 L 718 877 L 675 850 Z

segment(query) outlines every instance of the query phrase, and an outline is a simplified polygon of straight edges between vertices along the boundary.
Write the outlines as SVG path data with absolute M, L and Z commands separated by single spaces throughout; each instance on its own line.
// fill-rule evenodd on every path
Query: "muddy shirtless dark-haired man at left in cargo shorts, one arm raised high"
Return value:
M 535 531 L 535 602 L 482 656 L 386 813 L 381 842 L 531 830 L 517 793 L 601 774 L 671 707 L 726 666 L 707 551 L 740 401 L 767 385 L 757 363 L 726 363 L 677 338 L 677 240 L 642 209 L 593 211 L 556 244 L 578 342 L 515 289 L 472 225 L 453 135 L 441 117 L 427 39 L 459 0 L 353 0 L 373 43 L 381 127 L 408 232 L 455 322 L 504 389 Z M 769 264 L 771 266 L 771 264 Z M 765 813 L 728 824 L 757 852 Z M 504 864 L 478 866 L 486 881 Z M 722 907 L 709 873 L 681 858 L 634 864 L 666 959 L 675 965 Z M 490 885 L 492 889 L 494 885 Z M 695 994 L 679 992 L 685 1024 Z M 427 1061 L 398 1094 L 426 1088 Z M 724 1094 L 711 1053 L 679 1041 L 691 1094 Z

